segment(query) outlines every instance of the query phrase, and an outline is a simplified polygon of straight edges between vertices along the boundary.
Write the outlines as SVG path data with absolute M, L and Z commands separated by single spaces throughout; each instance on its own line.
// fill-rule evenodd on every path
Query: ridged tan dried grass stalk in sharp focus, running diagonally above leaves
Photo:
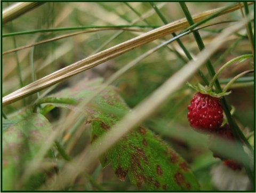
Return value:
M 200 13 L 198 15 L 195 15 L 193 19 L 195 22 L 200 21 L 209 16 L 210 14 L 215 13 L 221 9 L 214 9 Z M 235 5 L 230 9 L 221 12 L 219 15 L 226 14 L 237 9 L 239 9 L 239 5 Z M 153 29 L 138 37 L 132 38 L 129 41 L 110 47 L 107 50 L 91 55 L 90 57 L 87 57 L 83 60 L 77 61 L 72 65 L 55 71 L 54 73 L 47 75 L 41 79 L 38 79 L 37 81 L 30 83 L 29 85 L 24 86 L 21 89 L 5 96 L 3 98 L 3 106 L 18 101 L 22 98 L 27 97 L 28 95 L 31 95 L 43 89 L 46 89 L 47 87 L 54 85 L 58 82 L 61 82 L 64 79 L 69 78 L 70 76 L 74 76 L 78 73 L 81 73 L 84 70 L 90 69 L 110 59 L 116 58 L 121 54 L 124 54 L 135 49 L 136 47 L 145 45 L 149 42 L 154 41 L 155 39 L 162 38 L 166 35 L 175 33 L 176 31 L 185 29 L 188 26 L 189 25 L 187 19 L 183 18 L 172 23 L 169 23 L 165 26 Z

